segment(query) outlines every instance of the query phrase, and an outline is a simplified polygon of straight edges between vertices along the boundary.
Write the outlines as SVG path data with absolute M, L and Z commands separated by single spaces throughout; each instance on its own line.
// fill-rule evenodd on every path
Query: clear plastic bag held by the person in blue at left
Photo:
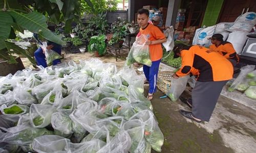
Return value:
M 52 65 L 52 62 L 54 60 L 57 60 L 57 59 L 61 59 L 62 57 L 57 53 L 55 52 L 54 50 L 52 49 L 47 49 L 47 42 L 42 42 L 42 45 L 40 45 L 40 47 L 42 48 L 42 50 L 45 51 L 45 56 L 46 56 L 46 62 L 47 62 L 47 65 L 50 66 Z

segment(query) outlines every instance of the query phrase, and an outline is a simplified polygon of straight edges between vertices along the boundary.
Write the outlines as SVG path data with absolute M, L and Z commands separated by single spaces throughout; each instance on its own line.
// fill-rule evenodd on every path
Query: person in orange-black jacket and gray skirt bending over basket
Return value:
M 174 53 L 174 58 L 181 57 L 182 63 L 173 78 L 190 73 L 198 75 L 192 90 L 192 112 L 180 110 L 180 113 L 197 122 L 209 121 L 223 86 L 232 79 L 232 64 L 217 52 L 199 45 L 180 44 L 174 47 Z

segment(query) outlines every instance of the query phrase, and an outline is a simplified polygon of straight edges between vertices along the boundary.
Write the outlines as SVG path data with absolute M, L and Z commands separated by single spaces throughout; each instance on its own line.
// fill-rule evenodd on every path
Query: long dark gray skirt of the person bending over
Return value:
M 196 82 L 192 90 L 192 113 L 203 121 L 209 121 L 221 90 L 227 81 Z

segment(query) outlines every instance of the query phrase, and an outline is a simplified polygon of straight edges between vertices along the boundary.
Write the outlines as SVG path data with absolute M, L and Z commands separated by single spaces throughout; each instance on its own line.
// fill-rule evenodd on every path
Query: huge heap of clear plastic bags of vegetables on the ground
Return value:
M 0 152 L 161 151 L 143 77 L 98 59 L 0 78 Z

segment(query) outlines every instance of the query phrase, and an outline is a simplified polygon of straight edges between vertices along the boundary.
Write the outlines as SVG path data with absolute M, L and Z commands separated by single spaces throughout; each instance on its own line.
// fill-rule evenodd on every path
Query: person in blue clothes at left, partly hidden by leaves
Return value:
M 51 30 L 52 32 L 55 31 L 53 26 L 49 26 L 48 29 Z M 37 40 L 37 43 L 42 45 L 42 42 L 38 39 L 38 35 L 33 34 L 33 36 Z M 52 49 L 55 52 L 57 52 L 59 55 L 61 54 L 61 45 L 60 44 L 57 44 L 57 43 L 54 43 L 54 42 L 51 42 L 51 41 L 47 41 L 47 49 Z M 35 51 L 34 56 L 35 56 L 35 60 L 36 60 L 37 65 L 47 67 L 45 50 L 43 50 L 41 47 L 39 47 Z M 57 64 L 60 64 L 60 63 L 61 63 L 60 59 L 57 59 L 57 60 L 53 61 L 53 65 L 57 65 Z

